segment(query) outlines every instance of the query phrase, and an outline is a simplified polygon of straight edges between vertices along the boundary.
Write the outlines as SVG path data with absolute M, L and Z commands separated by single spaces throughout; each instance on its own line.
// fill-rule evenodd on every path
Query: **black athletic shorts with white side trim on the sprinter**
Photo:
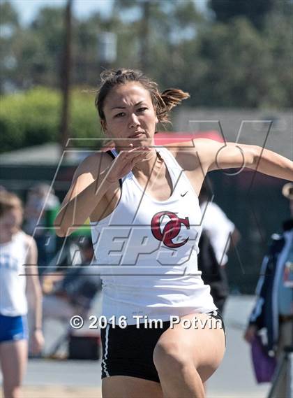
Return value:
M 220 313 L 212 311 L 207 315 L 221 320 L 225 333 Z M 136 325 L 128 325 L 123 329 L 118 325 L 113 327 L 108 323 L 106 328 L 101 329 L 102 378 L 132 376 L 160 383 L 158 372 L 153 364 L 153 350 L 160 335 L 169 327 L 170 321 L 163 322 L 163 327 L 158 328 L 146 328 L 144 324 L 141 324 L 139 328 Z

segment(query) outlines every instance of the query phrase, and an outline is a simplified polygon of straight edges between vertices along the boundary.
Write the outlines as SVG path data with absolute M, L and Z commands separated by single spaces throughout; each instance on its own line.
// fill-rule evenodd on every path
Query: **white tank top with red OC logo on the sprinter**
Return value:
M 170 320 L 171 315 L 216 309 L 197 269 L 202 213 L 183 169 L 167 148 L 158 150 L 172 179 L 172 194 L 158 201 L 132 172 L 122 179 L 119 204 L 91 222 L 96 265 L 103 280 L 103 315 Z M 112 150 L 114 156 L 117 152 Z M 135 318 L 134 318 L 135 317 Z M 141 319 L 144 322 L 144 319 Z

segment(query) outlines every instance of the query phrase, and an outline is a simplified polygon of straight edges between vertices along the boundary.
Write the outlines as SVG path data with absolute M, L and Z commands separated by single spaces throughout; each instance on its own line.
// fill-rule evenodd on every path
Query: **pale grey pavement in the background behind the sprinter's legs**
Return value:
M 209 379 L 206 398 L 266 398 L 269 383 L 257 385 L 250 360 L 250 348 L 243 341 L 243 331 L 254 303 L 252 296 L 231 296 L 225 310 L 227 349 L 219 369 Z M 93 313 L 100 314 L 100 297 Z M 65 328 L 65 329 L 64 329 Z M 66 325 L 50 322 L 45 327 L 45 352 L 66 330 Z M 66 350 L 61 347 L 59 353 Z M 25 398 L 98 398 L 100 360 L 29 360 L 24 379 Z M 1 397 L 1 395 L 0 395 Z M 178 397 L 180 398 L 180 397 Z

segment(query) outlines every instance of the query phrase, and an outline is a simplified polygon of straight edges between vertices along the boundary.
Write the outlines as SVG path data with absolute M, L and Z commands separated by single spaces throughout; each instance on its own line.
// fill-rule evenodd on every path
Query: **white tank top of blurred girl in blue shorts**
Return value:
M 24 264 L 27 258 L 26 234 L 20 231 L 8 243 L 0 243 L 0 314 L 25 315 L 27 297 Z

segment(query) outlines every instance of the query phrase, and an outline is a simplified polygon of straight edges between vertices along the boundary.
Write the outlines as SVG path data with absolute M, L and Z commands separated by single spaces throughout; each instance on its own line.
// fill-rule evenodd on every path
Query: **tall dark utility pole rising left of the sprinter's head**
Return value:
M 66 9 L 64 13 L 64 44 L 63 44 L 63 58 L 61 63 L 61 92 L 62 92 L 62 108 L 61 108 L 61 123 L 60 123 L 60 143 L 61 153 L 66 148 L 66 143 L 69 138 L 68 121 L 69 121 L 69 104 L 70 104 L 70 70 L 71 70 L 71 13 L 73 0 L 67 0 Z

